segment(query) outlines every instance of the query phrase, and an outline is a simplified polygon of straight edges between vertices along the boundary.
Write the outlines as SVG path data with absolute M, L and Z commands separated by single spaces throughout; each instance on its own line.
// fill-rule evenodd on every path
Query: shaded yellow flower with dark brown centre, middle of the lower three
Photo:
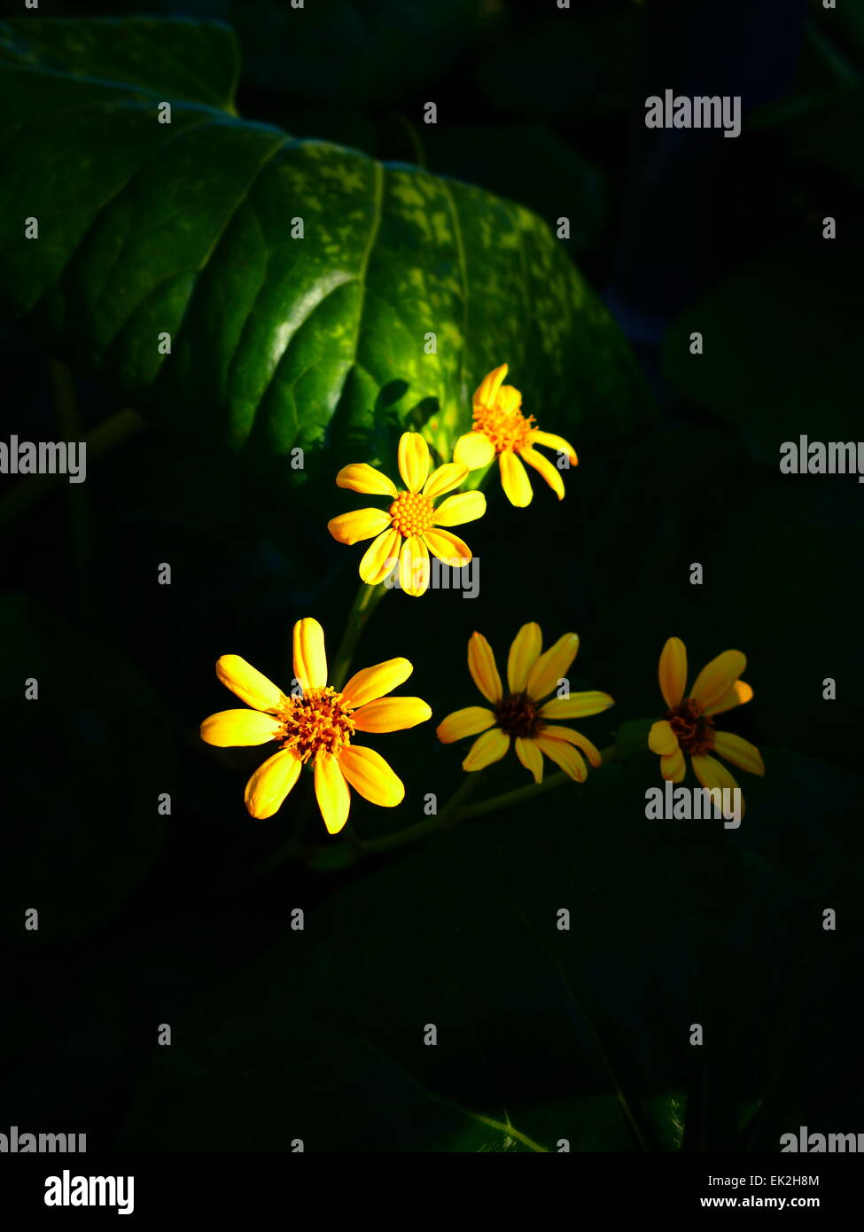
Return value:
M 579 732 L 560 727 L 555 721 L 599 715 L 614 705 L 613 699 L 603 692 L 578 692 L 542 701 L 567 674 L 578 649 L 576 633 L 564 633 L 544 654 L 540 626 L 523 625 L 507 659 L 509 691 L 504 692 L 489 643 L 482 633 L 472 634 L 468 671 L 492 708 L 467 706 L 454 711 L 436 732 L 444 744 L 482 733 L 471 745 L 463 770 L 482 770 L 499 761 L 513 740 L 516 756 L 531 771 L 535 782 L 542 782 L 544 754 L 571 779 L 584 782 L 588 771 L 579 749 L 595 769 L 600 765 L 600 754 Z

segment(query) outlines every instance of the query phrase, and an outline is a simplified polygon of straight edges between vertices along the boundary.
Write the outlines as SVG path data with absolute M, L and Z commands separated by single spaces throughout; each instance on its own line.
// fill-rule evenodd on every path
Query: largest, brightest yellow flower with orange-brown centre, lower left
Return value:
M 316 796 L 330 834 L 348 821 L 349 784 L 373 804 L 401 803 L 406 788 L 381 754 L 354 744 L 357 732 L 399 732 L 431 717 L 419 697 L 386 697 L 414 670 L 408 659 L 387 659 L 351 676 L 341 692 L 327 683 L 324 631 L 317 620 L 298 620 L 293 628 L 293 668 L 302 696 L 290 696 L 271 684 L 239 654 L 223 654 L 216 674 L 251 710 L 223 710 L 201 724 L 207 744 L 232 748 L 267 744 L 280 748 L 247 784 L 245 802 L 253 817 L 272 817 L 300 777 L 314 768 Z

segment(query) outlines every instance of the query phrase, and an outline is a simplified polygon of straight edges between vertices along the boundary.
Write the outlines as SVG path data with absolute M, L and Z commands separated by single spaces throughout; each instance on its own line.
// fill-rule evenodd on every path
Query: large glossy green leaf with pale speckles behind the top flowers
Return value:
M 237 118 L 218 25 L 27 20 L 0 38 L 2 306 L 144 409 L 293 479 L 323 445 L 328 473 L 383 457 L 404 425 L 446 448 L 504 360 L 546 426 L 631 426 L 630 352 L 523 207 Z

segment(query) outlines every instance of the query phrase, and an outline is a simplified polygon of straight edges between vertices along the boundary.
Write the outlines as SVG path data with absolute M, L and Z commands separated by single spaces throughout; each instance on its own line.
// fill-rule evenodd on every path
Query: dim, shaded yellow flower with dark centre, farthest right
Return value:
M 751 686 L 740 679 L 746 667 L 747 659 L 741 650 L 723 650 L 703 668 L 685 697 L 687 647 L 679 637 L 670 637 L 666 643 L 658 676 L 663 701 L 669 708 L 648 733 L 648 747 L 659 754 L 664 779 L 684 780 L 687 755 L 703 787 L 737 787 L 733 776 L 711 753 L 719 753 L 751 774 L 764 775 L 762 754 L 754 744 L 714 727 L 715 715 L 743 706 L 753 696 Z

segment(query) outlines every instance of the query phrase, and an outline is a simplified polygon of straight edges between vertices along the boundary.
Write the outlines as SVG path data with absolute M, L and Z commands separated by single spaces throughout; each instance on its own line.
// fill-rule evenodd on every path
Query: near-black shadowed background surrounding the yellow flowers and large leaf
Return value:
M 239 653 L 288 680 L 291 626 L 312 614 L 334 653 L 356 552 L 207 441 L 143 423 L 81 488 L 22 508 L 4 478 L 0 1129 L 86 1131 L 90 1148 L 290 1149 L 300 1136 L 307 1149 L 502 1149 L 462 1136 L 450 1116 L 467 1108 L 551 1149 L 776 1149 L 802 1124 L 857 1132 L 864 498 L 854 477 L 778 462 L 799 432 L 860 435 L 862 6 L 573 0 L 566 23 L 504 0 L 463 6 L 468 20 L 457 5 L 325 7 L 317 55 L 285 48 L 275 4 L 159 11 L 235 20 L 243 116 L 422 158 L 551 224 L 568 214 L 572 257 L 657 402 L 626 441 L 574 441 L 562 504 L 537 480 L 515 510 L 489 485 L 466 532 L 479 598 L 389 596 L 355 664 L 408 654 L 410 689 L 440 719 L 476 700 L 472 630 L 502 665 L 524 621 L 548 642 L 576 630 L 577 687 L 616 700 L 578 724 L 604 747 L 658 715 L 667 637 L 685 641 L 691 679 L 736 647 L 756 699 L 721 726 L 760 747 L 768 774 L 740 775 L 735 833 L 646 829 L 658 769 L 645 755 L 424 851 L 346 871 L 279 861 L 287 827 L 317 838 L 316 811 L 292 797 L 271 822 L 247 817 L 259 753 L 197 736 L 230 705 L 212 664 Z M 117 5 L 42 7 L 54 11 Z M 458 37 L 438 27 L 454 12 Z M 742 136 L 648 139 L 643 99 L 666 86 L 741 94 Z M 5 431 L 51 437 L 47 357 L 11 326 L 0 355 Z M 86 375 L 75 388 L 84 430 L 118 409 Z M 328 516 L 343 508 L 336 494 Z M 26 675 L 44 687 L 38 715 L 21 702 Z M 407 784 L 402 824 L 460 781 L 430 727 L 378 747 Z M 525 777 L 514 760 L 487 790 Z M 163 791 L 170 818 L 155 812 Z M 381 813 L 355 796 L 362 837 L 396 824 Z M 41 931 L 22 933 L 33 906 Z M 577 934 L 563 973 L 516 920 L 561 906 Z M 836 933 L 821 928 L 828 907 Z M 425 1021 L 444 1025 L 434 1062 L 415 1057 Z M 703 1050 L 688 1044 L 695 1021 Z

